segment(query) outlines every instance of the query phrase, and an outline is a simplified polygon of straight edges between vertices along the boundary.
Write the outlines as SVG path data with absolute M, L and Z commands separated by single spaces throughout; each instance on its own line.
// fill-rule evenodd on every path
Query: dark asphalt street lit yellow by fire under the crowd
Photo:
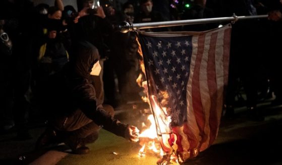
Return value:
M 116 109 L 116 118 L 132 125 L 140 124 L 144 103 L 128 103 Z M 222 118 L 213 145 L 184 164 L 282 164 L 282 107 L 264 103 L 258 106 L 265 120 L 249 120 L 246 107 L 237 107 L 234 119 Z M 129 120 L 130 119 L 130 120 Z M 16 133 L 0 135 L 0 164 L 156 164 L 154 154 L 138 156 L 141 146 L 101 130 L 96 142 L 88 145 L 90 153 L 75 155 L 64 143 L 34 151 L 45 125 L 29 126 L 32 139 L 19 141 Z M 176 164 L 176 163 L 174 163 Z

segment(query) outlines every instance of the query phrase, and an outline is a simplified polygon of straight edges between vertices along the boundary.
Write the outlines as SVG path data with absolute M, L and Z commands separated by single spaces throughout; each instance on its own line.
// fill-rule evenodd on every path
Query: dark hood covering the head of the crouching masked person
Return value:
M 91 69 L 98 60 L 98 49 L 90 42 L 80 41 L 74 48 L 74 57 L 71 60 L 71 65 L 73 65 L 75 75 L 88 78 Z

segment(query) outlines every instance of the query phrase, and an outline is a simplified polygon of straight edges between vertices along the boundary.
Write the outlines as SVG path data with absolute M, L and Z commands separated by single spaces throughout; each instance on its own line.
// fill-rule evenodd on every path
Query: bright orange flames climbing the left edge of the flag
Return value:
M 153 153 L 156 154 L 159 159 L 157 161 L 157 164 L 170 164 L 171 160 L 175 161 L 178 163 L 178 156 L 172 153 L 166 153 L 162 150 L 160 141 L 158 140 L 157 137 L 157 130 L 156 128 L 159 128 L 158 131 L 161 133 L 163 132 L 171 132 L 171 130 L 168 130 L 170 127 L 171 123 L 171 117 L 168 115 L 170 114 L 170 111 L 166 109 L 163 105 L 167 104 L 167 98 L 168 94 L 166 92 L 163 92 L 161 95 L 163 98 L 161 99 L 160 103 L 158 104 L 157 102 L 158 99 L 156 96 L 148 96 L 148 86 L 147 86 L 147 81 L 146 81 L 146 76 L 145 76 L 145 66 L 144 66 L 144 61 L 143 61 L 143 54 L 142 54 L 142 49 L 141 45 L 138 41 L 138 38 L 136 37 L 136 41 L 138 43 L 138 53 L 140 54 L 141 60 L 139 61 L 140 69 L 142 73 L 139 74 L 138 78 L 136 79 L 137 84 L 140 87 L 143 87 L 144 89 L 144 96 L 142 96 L 142 100 L 144 102 L 147 102 L 150 104 L 151 100 L 151 108 L 154 109 L 154 116 L 149 115 L 147 120 L 150 122 L 150 126 L 148 129 L 142 130 L 139 135 L 140 139 L 140 145 L 142 146 L 141 149 L 139 150 L 138 155 L 140 157 L 144 157 L 146 153 Z M 150 98 L 150 99 L 149 99 Z M 156 127 L 156 123 L 158 126 Z M 147 128 L 145 123 L 142 123 L 142 127 Z M 168 139 L 170 138 L 169 134 L 167 135 L 162 135 L 163 141 L 168 142 Z

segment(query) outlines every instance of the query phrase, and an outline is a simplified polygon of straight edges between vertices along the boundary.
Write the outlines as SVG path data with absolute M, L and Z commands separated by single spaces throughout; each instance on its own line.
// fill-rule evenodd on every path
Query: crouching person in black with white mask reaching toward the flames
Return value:
M 43 107 L 50 115 L 36 149 L 64 142 L 73 153 L 88 153 L 85 144 L 98 138 L 100 128 L 137 142 L 138 129 L 114 119 L 114 109 L 96 99 L 89 77 L 98 75 L 101 69 L 98 49 L 83 41 L 76 44 L 73 54 L 64 69 L 48 80 L 45 98 L 41 99 L 46 102 Z

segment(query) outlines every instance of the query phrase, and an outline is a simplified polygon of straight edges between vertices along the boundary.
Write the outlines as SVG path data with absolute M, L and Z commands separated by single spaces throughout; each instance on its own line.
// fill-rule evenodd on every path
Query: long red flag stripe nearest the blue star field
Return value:
M 202 61 L 202 56 L 204 52 L 205 34 L 199 35 L 198 38 L 198 51 L 195 61 L 194 74 L 192 79 L 192 106 L 194 109 L 195 119 L 199 127 L 200 136 L 205 139 L 204 128 L 205 128 L 205 116 L 203 113 L 203 105 L 201 101 L 200 93 L 200 66 Z

